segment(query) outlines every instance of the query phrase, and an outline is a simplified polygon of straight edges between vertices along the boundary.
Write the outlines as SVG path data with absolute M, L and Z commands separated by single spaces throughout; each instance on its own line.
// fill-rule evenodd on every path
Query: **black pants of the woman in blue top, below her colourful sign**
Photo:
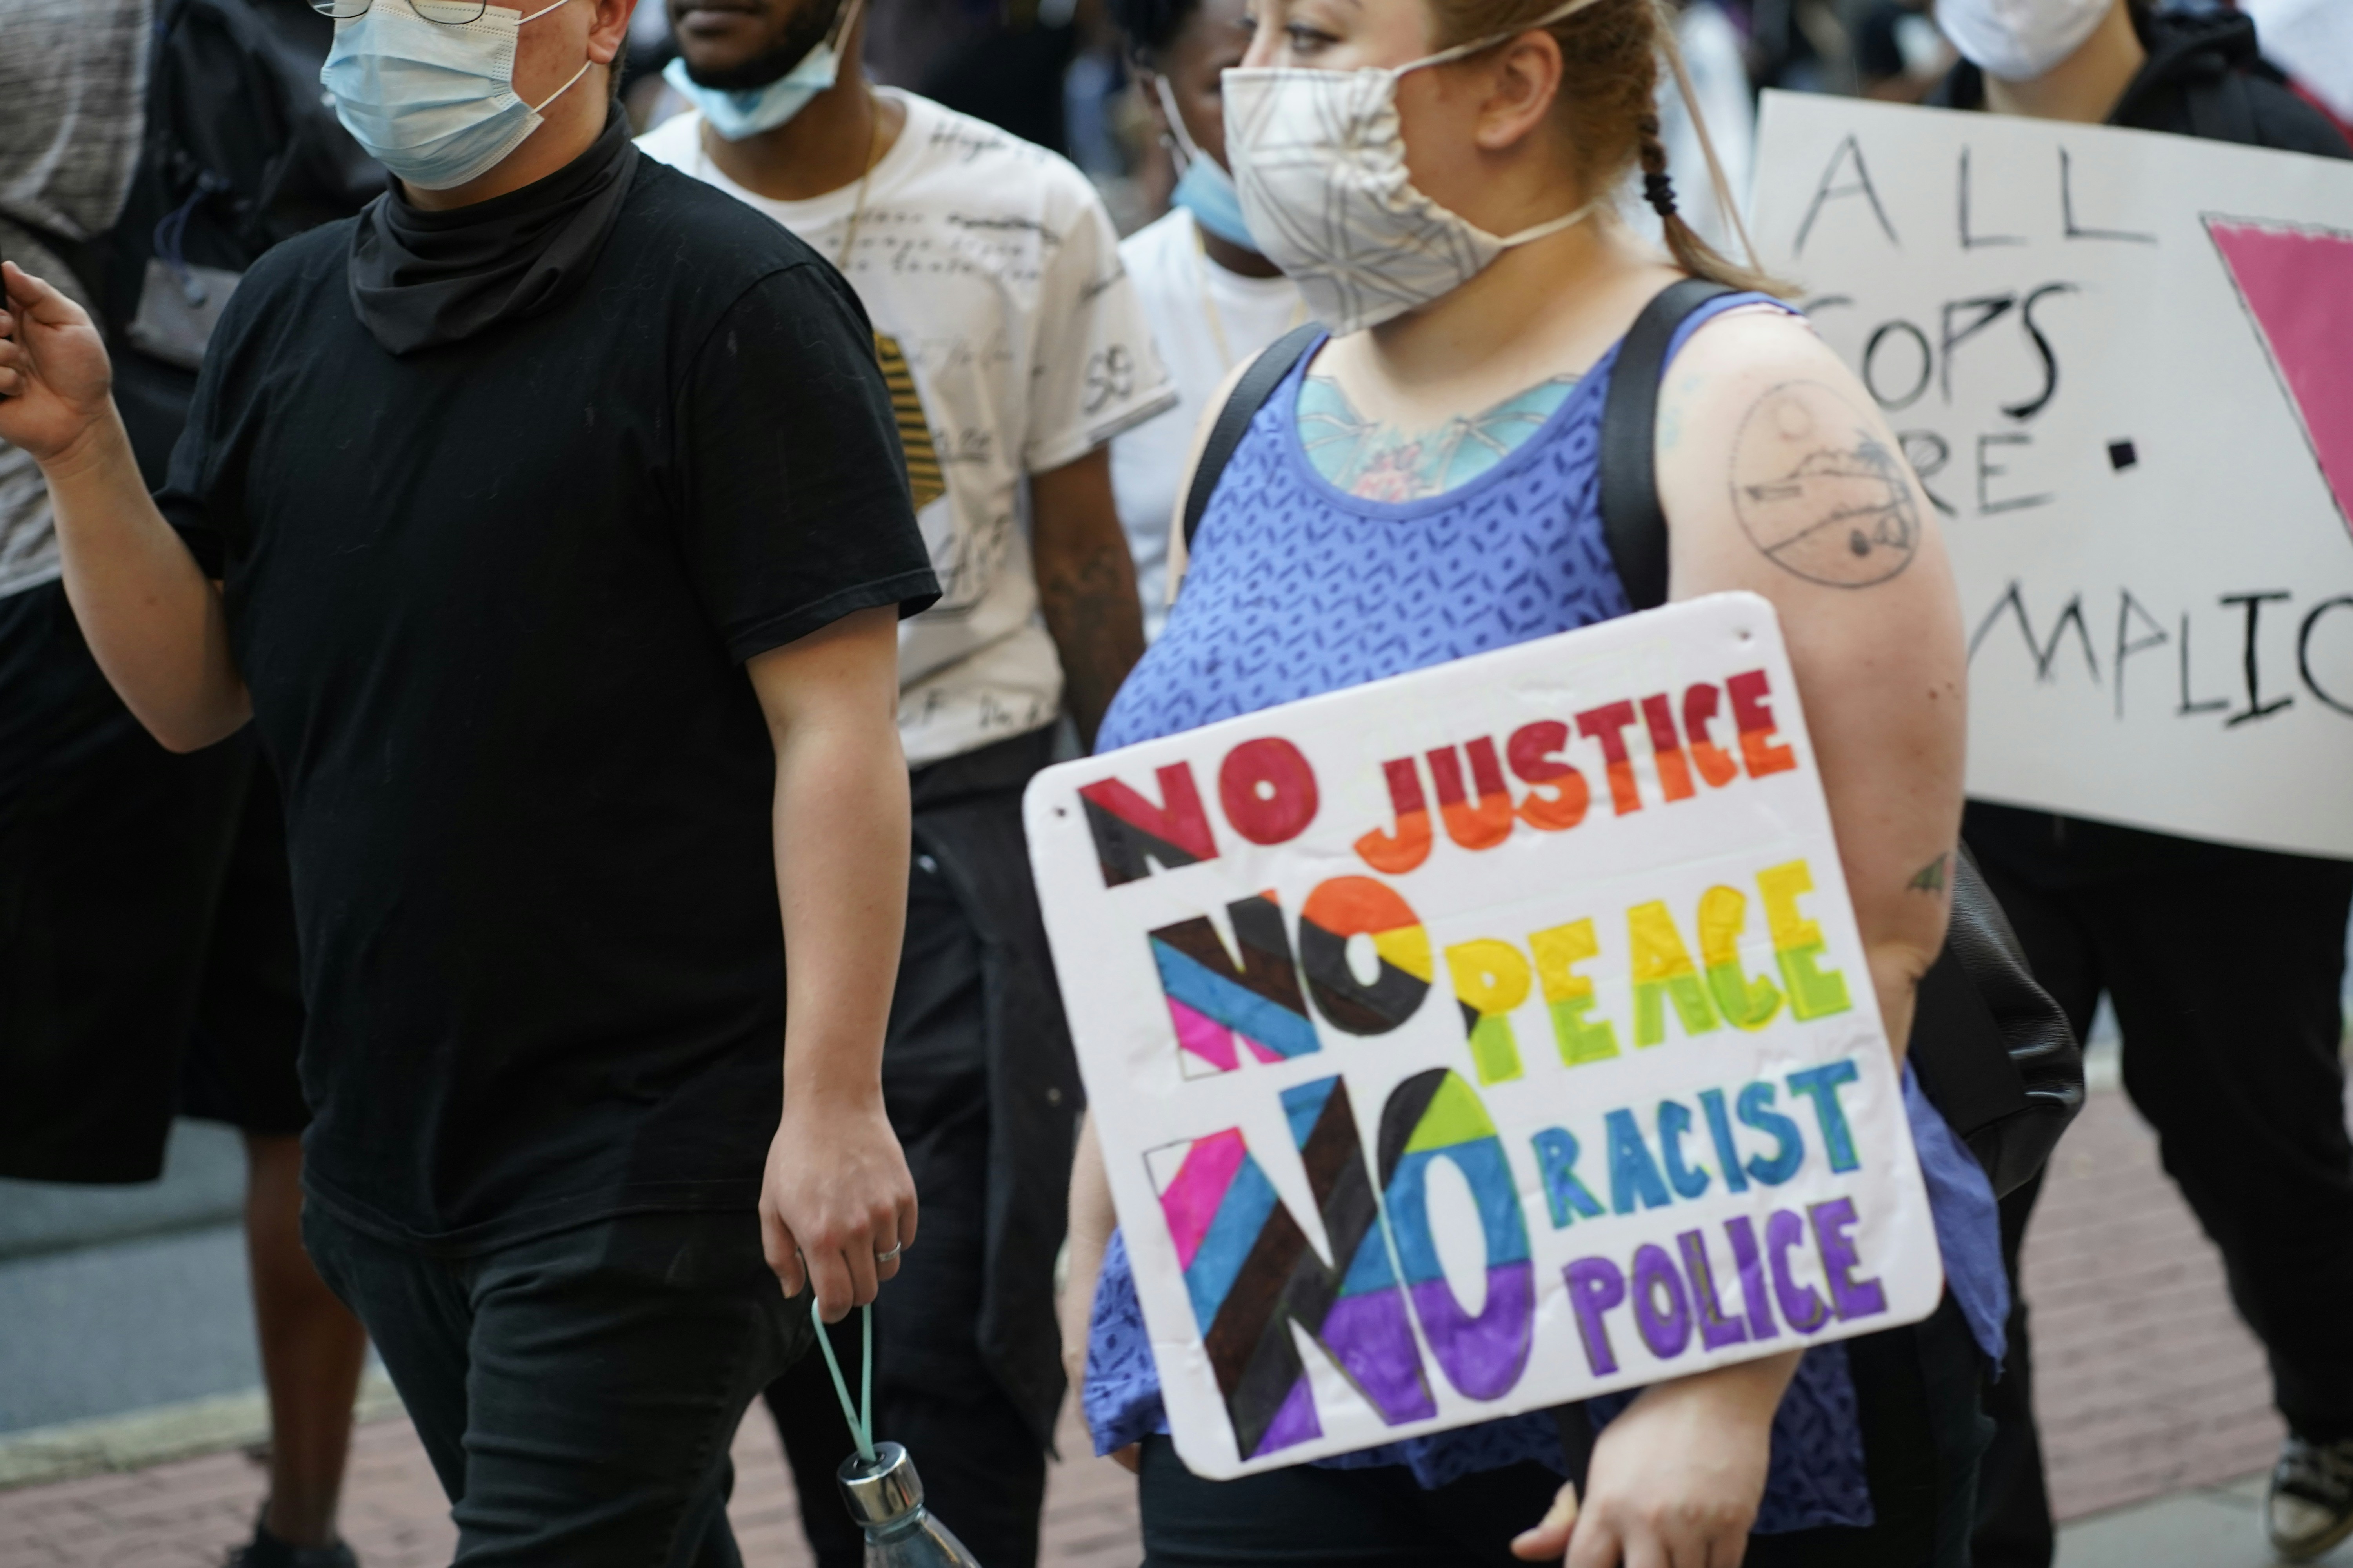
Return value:
M 1951 1298 L 1937 1316 L 1847 1342 L 1868 1530 L 1753 1535 L 1744 1568 L 1965 1568 L 1984 1361 Z M 1144 1439 L 1144 1568 L 1506 1568 L 1511 1537 L 1551 1507 L 1560 1476 L 1511 1465 L 1421 1490 L 1402 1467 L 1294 1465 L 1202 1481 L 1165 1436 Z

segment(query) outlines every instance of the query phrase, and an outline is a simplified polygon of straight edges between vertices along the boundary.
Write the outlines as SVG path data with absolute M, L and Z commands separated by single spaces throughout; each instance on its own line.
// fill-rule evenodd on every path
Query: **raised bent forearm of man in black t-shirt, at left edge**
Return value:
M 233 733 L 252 705 L 221 595 L 148 498 L 120 416 L 108 409 L 42 475 L 66 599 L 122 703 L 174 752 Z

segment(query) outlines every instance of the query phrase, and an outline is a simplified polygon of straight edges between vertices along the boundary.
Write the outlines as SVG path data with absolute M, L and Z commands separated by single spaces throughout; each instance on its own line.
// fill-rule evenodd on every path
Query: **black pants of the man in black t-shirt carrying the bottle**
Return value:
M 809 1347 L 753 1213 L 642 1213 L 471 1258 L 304 1213 L 456 1521 L 456 1568 L 739 1568 L 727 1446 Z

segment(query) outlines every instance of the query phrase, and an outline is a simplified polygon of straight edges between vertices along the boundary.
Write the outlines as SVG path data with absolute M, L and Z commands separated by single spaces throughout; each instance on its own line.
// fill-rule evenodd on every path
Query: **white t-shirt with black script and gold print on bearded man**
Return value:
M 873 317 L 941 585 L 939 604 L 899 623 L 899 741 L 922 766 L 1061 717 L 1024 480 L 1087 456 L 1176 393 L 1087 176 L 929 99 L 875 92 L 906 108 L 906 127 L 866 174 L 864 209 L 854 181 L 807 202 L 736 186 L 704 153 L 692 110 L 638 146 L 791 228 L 842 268 Z

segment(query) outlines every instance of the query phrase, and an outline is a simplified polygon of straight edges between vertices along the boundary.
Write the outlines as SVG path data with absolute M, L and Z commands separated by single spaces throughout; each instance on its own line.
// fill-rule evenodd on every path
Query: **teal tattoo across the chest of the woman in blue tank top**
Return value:
M 1480 414 L 1428 430 L 1365 418 L 1329 376 L 1299 388 L 1299 442 L 1315 473 L 1367 501 L 1419 501 L 1468 484 L 1511 456 L 1567 400 L 1577 376 L 1553 376 Z

